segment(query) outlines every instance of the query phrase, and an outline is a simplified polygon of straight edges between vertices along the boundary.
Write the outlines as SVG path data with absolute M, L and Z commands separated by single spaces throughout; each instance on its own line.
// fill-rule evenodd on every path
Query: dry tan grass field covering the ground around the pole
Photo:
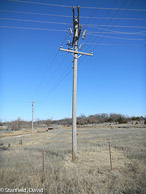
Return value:
M 146 193 L 144 126 L 78 127 L 75 162 L 71 161 L 71 138 L 69 127 L 36 130 L 33 139 L 25 130 L 0 132 L 0 193 L 6 193 L 6 188 L 15 189 L 9 193 Z

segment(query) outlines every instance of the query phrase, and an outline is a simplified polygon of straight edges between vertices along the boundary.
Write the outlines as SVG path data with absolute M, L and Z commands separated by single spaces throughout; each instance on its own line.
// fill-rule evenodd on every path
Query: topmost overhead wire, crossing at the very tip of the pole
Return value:
M 29 3 L 29 4 L 37 4 L 37 5 L 47 5 L 47 6 L 55 6 L 55 7 L 63 7 L 63 8 L 72 8 L 70 5 L 59 5 L 59 4 L 48 4 L 48 3 L 40 3 L 40 2 L 32 2 L 32 1 L 22 1 L 22 0 L 9 0 L 18 3 Z M 107 7 L 80 7 L 82 9 L 96 9 L 96 10 L 111 10 L 112 8 Z M 138 11 L 138 12 L 146 12 L 145 9 L 124 9 L 124 8 L 113 8 L 113 10 L 119 11 Z

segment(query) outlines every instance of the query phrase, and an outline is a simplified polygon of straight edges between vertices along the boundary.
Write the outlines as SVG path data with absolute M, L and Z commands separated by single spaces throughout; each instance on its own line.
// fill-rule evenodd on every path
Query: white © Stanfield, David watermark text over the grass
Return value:
M 43 193 L 44 189 L 35 188 L 0 188 L 0 193 Z

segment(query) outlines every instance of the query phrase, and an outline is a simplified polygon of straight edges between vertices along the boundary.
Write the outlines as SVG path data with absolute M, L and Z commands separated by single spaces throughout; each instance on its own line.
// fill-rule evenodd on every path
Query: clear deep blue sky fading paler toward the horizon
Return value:
M 78 60 L 77 115 L 146 116 L 145 0 L 0 0 L 2 121 L 31 120 L 32 100 L 35 119 L 72 116 L 73 56 L 59 47 L 72 40 L 73 5 L 88 31 L 81 51 L 94 54 Z

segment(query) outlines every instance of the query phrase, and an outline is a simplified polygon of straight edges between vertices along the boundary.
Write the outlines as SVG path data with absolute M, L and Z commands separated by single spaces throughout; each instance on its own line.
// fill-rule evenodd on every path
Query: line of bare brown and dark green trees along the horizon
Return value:
M 121 114 L 95 114 L 95 115 L 80 115 L 77 117 L 77 125 L 87 125 L 87 124 L 98 124 L 98 123 L 128 123 L 129 121 L 136 121 L 136 123 L 140 121 L 144 121 L 144 124 L 146 124 L 146 117 L 126 117 Z M 34 127 L 43 127 L 43 126 L 50 126 L 51 124 L 57 124 L 57 125 L 72 125 L 72 119 L 71 118 L 64 118 L 60 120 L 39 120 L 37 119 L 36 122 L 34 122 Z M 31 121 L 24 121 L 20 118 L 18 118 L 15 121 L 11 122 L 0 122 L 0 126 L 7 125 L 9 129 L 12 130 L 21 130 L 22 128 L 30 128 L 31 127 Z

